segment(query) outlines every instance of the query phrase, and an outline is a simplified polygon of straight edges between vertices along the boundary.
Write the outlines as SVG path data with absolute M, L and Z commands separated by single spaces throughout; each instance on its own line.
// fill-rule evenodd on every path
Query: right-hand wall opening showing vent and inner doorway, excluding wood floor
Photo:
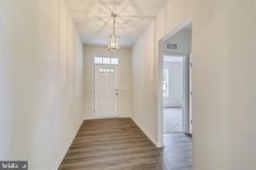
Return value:
M 163 134 L 192 134 L 192 24 L 162 41 Z

